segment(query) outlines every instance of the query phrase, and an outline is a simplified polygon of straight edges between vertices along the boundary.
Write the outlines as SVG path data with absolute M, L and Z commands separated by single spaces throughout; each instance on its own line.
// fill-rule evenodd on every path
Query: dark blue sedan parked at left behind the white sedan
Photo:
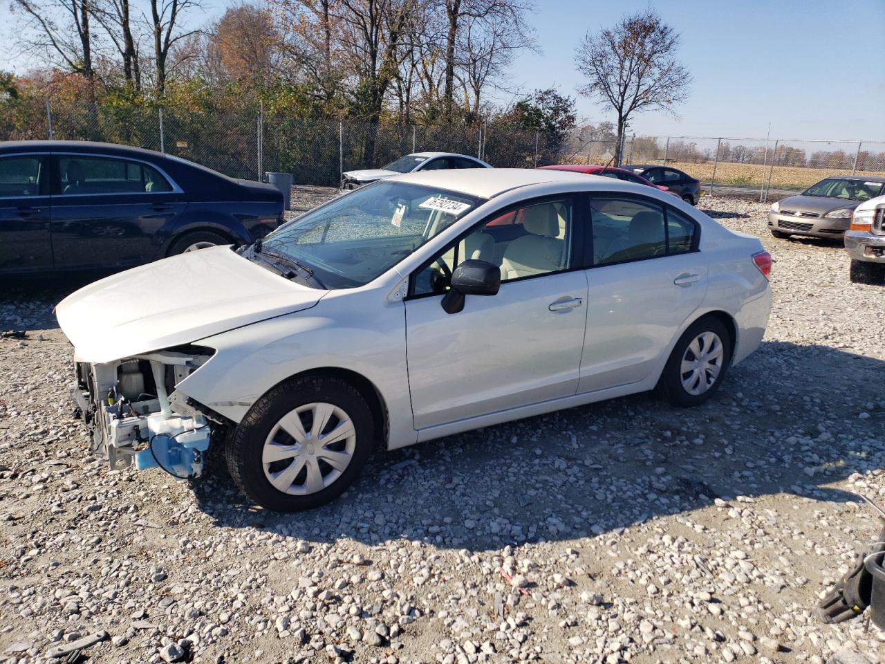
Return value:
M 0 274 L 140 265 L 246 244 L 283 220 L 278 189 L 109 143 L 0 143 Z

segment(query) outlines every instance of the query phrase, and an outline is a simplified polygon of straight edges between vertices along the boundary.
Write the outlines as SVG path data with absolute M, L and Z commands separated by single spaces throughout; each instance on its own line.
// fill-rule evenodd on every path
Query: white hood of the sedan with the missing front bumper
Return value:
M 212 247 L 91 283 L 65 297 L 56 317 L 77 359 L 101 363 L 301 311 L 327 292 Z

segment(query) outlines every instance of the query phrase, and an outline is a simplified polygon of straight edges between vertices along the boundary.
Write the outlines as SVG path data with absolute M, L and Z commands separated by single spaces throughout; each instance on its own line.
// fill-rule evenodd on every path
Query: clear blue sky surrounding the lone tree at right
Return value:
M 647 112 L 637 135 L 766 136 L 885 140 L 885 0 L 538 0 L 532 17 L 541 55 L 513 64 L 527 89 L 555 85 L 576 97 L 584 120 L 614 120 L 578 95 L 574 48 L 589 30 L 652 6 L 681 35 L 694 76 L 679 119 Z M 878 45 L 877 45 L 878 44 Z

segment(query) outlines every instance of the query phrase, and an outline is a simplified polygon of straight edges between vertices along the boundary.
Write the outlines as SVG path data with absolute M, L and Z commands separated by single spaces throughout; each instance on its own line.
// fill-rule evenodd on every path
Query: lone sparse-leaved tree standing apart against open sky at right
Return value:
M 615 163 L 627 123 L 635 112 L 673 106 L 689 97 L 691 76 L 675 58 L 679 35 L 649 9 L 620 19 L 611 30 L 588 33 L 575 61 L 587 79 L 581 92 L 611 106 L 618 114 Z

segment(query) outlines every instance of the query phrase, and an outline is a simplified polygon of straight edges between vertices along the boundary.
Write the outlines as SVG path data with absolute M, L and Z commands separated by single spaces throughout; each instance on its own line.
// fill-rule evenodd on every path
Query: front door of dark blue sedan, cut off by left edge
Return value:
M 0 155 L 0 274 L 51 269 L 49 156 Z

